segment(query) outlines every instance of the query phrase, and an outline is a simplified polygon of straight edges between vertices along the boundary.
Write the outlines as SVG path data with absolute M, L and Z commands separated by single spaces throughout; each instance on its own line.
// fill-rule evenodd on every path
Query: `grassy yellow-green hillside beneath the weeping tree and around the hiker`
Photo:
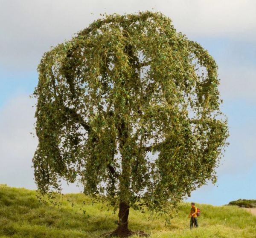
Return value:
M 0 185 L 0 238 L 96 238 L 116 228 L 117 214 L 83 194 L 59 198 L 62 206 L 39 203 L 36 192 Z M 189 229 L 190 204 L 181 203 L 172 224 L 131 209 L 129 227 L 151 238 L 256 238 L 256 216 L 234 206 L 198 205 L 199 228 Z M 137 236 L 132 236 L 133 238 Z

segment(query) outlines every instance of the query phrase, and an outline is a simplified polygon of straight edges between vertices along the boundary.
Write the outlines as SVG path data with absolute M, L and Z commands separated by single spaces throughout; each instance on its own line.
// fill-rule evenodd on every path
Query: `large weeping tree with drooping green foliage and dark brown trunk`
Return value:
M 161 13 L 104 15 L 44 53 L 33 157 L 44 194 L 61 179 L 128 214 L 163 212 L 216 181 L 228 137 L 217 65 Z

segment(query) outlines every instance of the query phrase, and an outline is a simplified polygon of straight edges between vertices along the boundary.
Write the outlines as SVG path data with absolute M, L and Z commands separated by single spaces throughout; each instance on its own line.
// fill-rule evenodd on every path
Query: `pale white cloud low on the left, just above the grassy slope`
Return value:
M 0 184 L 36 189 L 32 157 L 38 144 L 33 138 L 35 122 L 35 99 L 19 95 L 0 109 Z M 67 186 L 63 192 L 80 192 L 76 184 Z

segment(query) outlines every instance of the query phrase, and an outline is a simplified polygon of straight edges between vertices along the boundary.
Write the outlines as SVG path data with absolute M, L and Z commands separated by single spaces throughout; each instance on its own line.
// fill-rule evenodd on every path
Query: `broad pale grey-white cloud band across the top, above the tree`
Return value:
M 35 69 L 49 46 L 70 39 L 99 13 L 123 14 L 153 7 L 192 38 L 256 39 L 254 0 L 1 0 L 0 63 Z

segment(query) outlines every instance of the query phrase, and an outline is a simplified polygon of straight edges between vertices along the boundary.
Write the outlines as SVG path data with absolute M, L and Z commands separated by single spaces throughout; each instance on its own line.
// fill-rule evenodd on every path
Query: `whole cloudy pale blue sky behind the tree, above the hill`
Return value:
M 178 32 L 214 57 L 230 137 L 218 182 L 187 201 L 223 205 L 256 199 L 255 0 L 0 0 L 0 184 L 36 189 L 32 157 L 37 65 L 50 46 L 69 40 L 100 13 L 161 11 Z M 63 184 L 63 192 L 81 186 Z

